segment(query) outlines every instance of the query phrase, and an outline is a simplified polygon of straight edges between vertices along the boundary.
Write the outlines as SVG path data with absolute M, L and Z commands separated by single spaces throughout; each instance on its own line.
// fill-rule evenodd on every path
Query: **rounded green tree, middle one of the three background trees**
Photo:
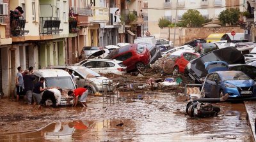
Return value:
M 204 17 L 197 10 L 188 10 L 182 15 L 182 23 L 189 27 L 200 27 L 204 24 Z

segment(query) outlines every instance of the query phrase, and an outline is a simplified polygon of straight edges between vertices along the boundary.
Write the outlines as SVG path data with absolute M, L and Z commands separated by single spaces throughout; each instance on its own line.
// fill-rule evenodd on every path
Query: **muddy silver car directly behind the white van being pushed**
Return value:
M 92 69 L 84 66 L 50 66 L 51 69 L 68 69 L 76 76 L 77 87 L 88 89 L 89 94 L 95 92 L 106 92 L 113 90 L 113 81 L 104 76 L 100 76 Z

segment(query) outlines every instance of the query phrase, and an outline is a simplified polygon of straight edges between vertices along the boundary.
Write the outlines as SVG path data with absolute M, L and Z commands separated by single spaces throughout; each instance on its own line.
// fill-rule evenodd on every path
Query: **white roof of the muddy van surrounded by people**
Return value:
M 40 75 L 43 77 L 57 77 L 57 76 L 70 76 L 67 71 L 62 69 L 39 69 L 34 71 L 34 75 Z

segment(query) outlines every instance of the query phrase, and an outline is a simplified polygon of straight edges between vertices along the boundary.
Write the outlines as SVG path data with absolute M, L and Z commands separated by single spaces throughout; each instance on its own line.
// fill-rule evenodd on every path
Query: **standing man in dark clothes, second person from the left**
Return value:
M 25 99 L 27 99 L 28 104 L 32 103 L 32 94 L 33 94 L 33 80 L 35 76 L 30 75 L 28 69 L 24 71 L 25 75 L 23 76 L 24 80 L 24 91 L 26 92 Z

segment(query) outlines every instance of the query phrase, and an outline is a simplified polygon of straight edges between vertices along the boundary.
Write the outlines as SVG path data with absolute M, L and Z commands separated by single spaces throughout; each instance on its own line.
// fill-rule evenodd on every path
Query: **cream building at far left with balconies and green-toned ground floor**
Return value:
M 1 89 L 15 94 L 17 67 L 44 68 L 65 64 L 68 31 L 67 0 L 3 0 L 1 28 Z M 22 7 L 23 17 L 10 11 Z M 2 11 L 2 10 L 0 10 Z M 4 30 L 2 30 L 4 29 Z M 4 33 L 5 31 L 5 33 Z

